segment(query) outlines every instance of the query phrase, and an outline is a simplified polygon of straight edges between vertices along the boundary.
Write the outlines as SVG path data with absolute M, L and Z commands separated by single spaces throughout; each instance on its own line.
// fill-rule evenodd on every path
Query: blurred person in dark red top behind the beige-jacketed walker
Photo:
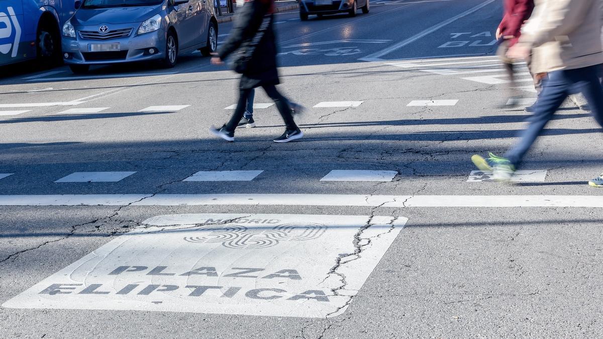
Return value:
M 496 29 L 496 39 L 499 42 L 497 54 L 502 61 L 502 65 L 507 71 L 507 75 L 511 80 L 509 86 L 509 95 L 507 102 L 502 104 L 502 108 L 513 107 L 519 104 L 519 93 L 517 92 L 515 81 L 515 65 L 516 60 L 507 56 L 509 48 L 517 43 L 521 36 L 523 23 L 528 20 L 534 10 L 534 0 L 504 0 L 504 15 L 502 21 Z M 528 69 L 530 66 L 529 60 Z

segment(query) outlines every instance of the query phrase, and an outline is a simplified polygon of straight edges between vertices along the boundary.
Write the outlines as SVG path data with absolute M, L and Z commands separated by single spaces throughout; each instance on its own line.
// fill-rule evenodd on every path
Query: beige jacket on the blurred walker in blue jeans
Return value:
M 538 0 L 520 43 L 532 48 L 532 72 L 603 63 L 602 0 Z

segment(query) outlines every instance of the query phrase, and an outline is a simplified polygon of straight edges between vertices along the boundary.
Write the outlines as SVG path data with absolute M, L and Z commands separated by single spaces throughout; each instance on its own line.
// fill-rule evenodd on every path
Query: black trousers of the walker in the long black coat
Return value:
M 268 97 L 274 101 L 276 108 L 279 110 L 280 116 L 285 121 L 285 126 L 288 130 L 297 130 L 297 125 L 291 115 L 291 107 L 289 107 L 289 100 L 287 100 L 273 84 L 262 85 Z M 239 90 L 239 101 L 236 104 L 235 113 L 233 113 L 230 121 L 226 124 L 227 131 L 235 131 L 236 126 L 241 121 L 243 114 L 245 113 L 245 107 L 247 107 L 247 98 L 249 97 L 251 90 L 253 89 L 240 89 Z

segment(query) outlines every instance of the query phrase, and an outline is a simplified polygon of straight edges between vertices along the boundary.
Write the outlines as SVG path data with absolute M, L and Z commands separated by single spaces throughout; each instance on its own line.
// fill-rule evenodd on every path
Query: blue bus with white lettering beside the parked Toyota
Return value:
M 74 0 L 0 0 L 0 65 L 61 60 L 61 33 Z

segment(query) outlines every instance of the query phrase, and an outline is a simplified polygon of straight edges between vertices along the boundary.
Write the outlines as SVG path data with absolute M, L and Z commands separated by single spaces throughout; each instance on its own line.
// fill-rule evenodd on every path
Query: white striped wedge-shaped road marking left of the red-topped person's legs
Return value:
M 496 55 L 477 57 L 453 57 L 440 59 L 417 59 L 385 62 L 385 65 L 403 68 L 409 71 L 427 72 L 446 77 L 457 77 L 461 80 L 473 81 L 482 84 L 508 84 L 511 80 L 500 67 Z M 517 89 L 527 92 L 536 92 L 532 77 L 527 71 L 525 63 L 517 63 L 521 71 L 516 73 L 515 82 L 527 85 L 517 86 Z

